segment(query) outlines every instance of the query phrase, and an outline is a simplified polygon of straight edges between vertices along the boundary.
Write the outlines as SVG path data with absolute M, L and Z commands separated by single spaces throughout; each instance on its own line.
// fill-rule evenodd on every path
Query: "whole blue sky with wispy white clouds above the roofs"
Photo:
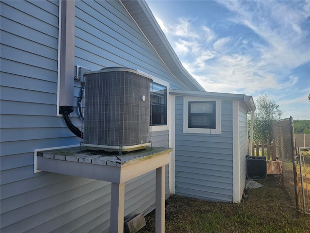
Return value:
M 310 119 L 310 1 L 146 0 L 206 91 L 267 95 Z

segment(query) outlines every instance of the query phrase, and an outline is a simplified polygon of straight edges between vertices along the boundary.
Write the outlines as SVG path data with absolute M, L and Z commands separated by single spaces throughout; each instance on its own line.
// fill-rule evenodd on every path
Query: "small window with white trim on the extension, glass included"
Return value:
M 221 133 L 220 100 L 184 98 L 184 133 Z

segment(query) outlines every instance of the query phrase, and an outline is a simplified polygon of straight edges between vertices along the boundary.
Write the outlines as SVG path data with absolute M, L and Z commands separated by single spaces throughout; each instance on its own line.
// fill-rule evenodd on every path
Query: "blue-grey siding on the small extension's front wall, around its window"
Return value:
M 183 97 L 176 97 L 175 192 L 233 201 L 233 103 L 221 101 L 221 134 L 183 133 Z

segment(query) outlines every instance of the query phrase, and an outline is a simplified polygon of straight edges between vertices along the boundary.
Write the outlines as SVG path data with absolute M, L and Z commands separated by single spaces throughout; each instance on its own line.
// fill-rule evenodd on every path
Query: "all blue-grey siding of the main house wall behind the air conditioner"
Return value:
M 1 1 L 1 233 L 107 232 L 110 183 L 33 173 L 34 149 L 80 139 L 57 117 L 58 1 Z M 119 1 L 76 1 L 75 65 L 140 69 L 184 88 L 170 75 Z M 75 83 L 74 106 L 80 85 Z M 78 109 L 72 113 L 81 125 Z M 168 131 L 152 132 L 167 147 Z M 125 216 L 150 211 L 155 172 L 125 185 Z M 166 166 L 166 197 L 169 171 Z

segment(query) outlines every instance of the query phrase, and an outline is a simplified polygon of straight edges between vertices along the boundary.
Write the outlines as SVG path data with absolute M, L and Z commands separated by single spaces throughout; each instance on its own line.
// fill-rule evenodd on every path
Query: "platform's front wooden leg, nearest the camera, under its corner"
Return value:
M 124 233 L 125 183 L 111 185 L 110 232 Z

